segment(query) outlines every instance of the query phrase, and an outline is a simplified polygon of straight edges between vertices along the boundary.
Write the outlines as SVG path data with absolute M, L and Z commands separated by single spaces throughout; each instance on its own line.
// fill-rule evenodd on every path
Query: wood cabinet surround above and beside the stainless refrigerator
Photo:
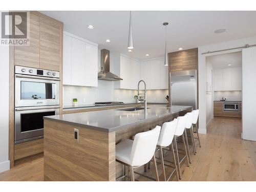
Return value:
M 169 93 L 170 72 L 197 70 L 197 103 L 198 103 L 198 48 L 168 53 L 169 60 Z M 198 107 L 198 106 L 197 106 Z

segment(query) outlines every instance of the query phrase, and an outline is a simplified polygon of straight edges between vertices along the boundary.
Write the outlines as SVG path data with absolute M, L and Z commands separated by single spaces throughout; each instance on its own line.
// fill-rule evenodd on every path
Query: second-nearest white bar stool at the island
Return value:
M 157 146 L 158 146 L 159 151 L 160 151 L 160 159 L 161 159 L 161 164 L 162 164 L 163 175 L 164 175 L 164 180 L 165 181 L 168 181 L 170 179 L 170 177 L 172 177 L 174 172 L 176 172 L 177 180 L 179 180 L 179 174 L 178 174 L 176 158 L 175 158 L 175 154 L 174 154 L 174 147 L 173 147 L 173 139 L 174 139 L 174 134 L 176 132 L 177 122 L 178 122 L 178 120 L 174 119 L 173 121 L 163 123 L 163 126 L 161 128 L 161 132 L 160 132 L 160 135 L 159 135 L 159 139 L 158 139 L 158 142 L 157 142 Z M 170 146 L 170 148 L 172 148 L 175 168 L 174 168 L 173 172 L 170 173 L 170 175 L 166 179 L 164 166 L 165 165 L 169 166 L 169 165 L 164 164 L 163 149 L 165 147 L 168 147 L 168 146 Z

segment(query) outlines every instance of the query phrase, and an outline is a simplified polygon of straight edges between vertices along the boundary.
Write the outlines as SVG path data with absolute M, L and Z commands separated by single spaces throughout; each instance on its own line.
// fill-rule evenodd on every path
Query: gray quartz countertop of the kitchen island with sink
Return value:
M 44 119 L 59 121 L 76 126 L 87 127 L 104 132 L 114 132 L 127 125 L 139 123 L 147 119 L 171 115 L 191 108 L 191 106 L 173 105 L 168 108 L 166 104 L 147 105 L 146 118 L 144 109 L 139 111 L 102 110 L 83 113 L 46 116 Z

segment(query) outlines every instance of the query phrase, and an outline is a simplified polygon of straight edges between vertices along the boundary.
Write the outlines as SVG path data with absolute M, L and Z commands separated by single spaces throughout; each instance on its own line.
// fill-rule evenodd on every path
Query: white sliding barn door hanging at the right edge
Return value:
M 256 95 L 256 47 L 243 50 L 243 129 L 242 138 L 256 141 L 255 95 Z

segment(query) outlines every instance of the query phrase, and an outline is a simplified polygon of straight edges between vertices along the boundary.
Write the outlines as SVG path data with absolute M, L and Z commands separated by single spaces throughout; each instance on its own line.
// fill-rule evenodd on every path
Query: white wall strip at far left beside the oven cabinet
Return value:
M 1 12 L 0 12 L 1 14 Z M 1 26 L 1 19 L 0 19 Z M 9 161 L 9 46 L 0 46 L 0 172 L 10 168 Z

